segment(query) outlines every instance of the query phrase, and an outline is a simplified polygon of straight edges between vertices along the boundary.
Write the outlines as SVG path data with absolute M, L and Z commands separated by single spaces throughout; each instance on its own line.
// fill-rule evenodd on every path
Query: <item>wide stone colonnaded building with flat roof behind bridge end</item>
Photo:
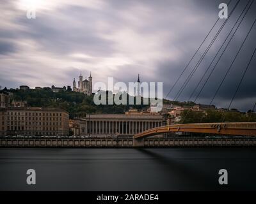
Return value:
M 143 112 L 125 114 L 87 114 L 79 119 L 80 136 L 132 136 L 162 126 L 163 116 Z

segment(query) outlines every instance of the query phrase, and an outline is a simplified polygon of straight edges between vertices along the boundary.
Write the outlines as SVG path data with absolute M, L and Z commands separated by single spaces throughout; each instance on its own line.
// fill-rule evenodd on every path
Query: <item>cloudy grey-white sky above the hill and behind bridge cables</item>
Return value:
M 171 0 L 0 0 L 0 85 L 63 86 L 92 71 L 93 84 L 115 81 L 163 82 L 166 96 L 182 69 L 193 56 L 212 25 L 218 19 L 218 5 L 228 1 Z M 237 0 L 228 5 L 230 13 Z M 180 97 L 187 101 L 204 75 L 218 48 L 248 1 L 237 4 L 234 13 L 196 69 Z M 27 18 L 34 6 L 35 19 Z M 208 104 L 225 75 L 253 21 L 256 3 L 244 17 L 236 34 L 197 103 Z M 207 45 L 223 24 L 220 19 L 187 71 L 168 98 L 175 97 Z M 234 66 L 213 103 L 227 107 L 243 70 L 256 47 L 253 26 Z M 218 59 L 218 58 L 217 58 Z M 256 102 L 256 57 L 244 77 L 232 107 L 252 108 Z M 211 70 L 211 69 L 210 69 Z M 208 73 L 207 73 L 208 75 Z M 206 77 L 207 77 L 206 75 Z M 204 82 L 204 80 L 203 80 Z M 196 91 L 198 92 L 198 91 Z M 191 100 L 195 99 L 193 97 Z

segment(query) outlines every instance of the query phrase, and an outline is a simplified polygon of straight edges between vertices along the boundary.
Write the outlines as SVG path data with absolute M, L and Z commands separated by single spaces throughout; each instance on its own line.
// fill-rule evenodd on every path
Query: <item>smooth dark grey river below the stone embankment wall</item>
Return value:
M 36 171 L 28 185 L 26 171 Z M 220 185 L 218 171 L 228 171 Z M 255 190 L 254 148 L 0 149 L 3 191 Z

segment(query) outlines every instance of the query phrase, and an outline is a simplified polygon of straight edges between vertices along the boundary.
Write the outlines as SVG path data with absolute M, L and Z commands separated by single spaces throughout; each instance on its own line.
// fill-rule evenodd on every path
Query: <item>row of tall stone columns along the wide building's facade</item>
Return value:
M 161 121 L 96 120 L 86 122 L 85 131 L 92 135 L 134 135 L 161 125 Z

